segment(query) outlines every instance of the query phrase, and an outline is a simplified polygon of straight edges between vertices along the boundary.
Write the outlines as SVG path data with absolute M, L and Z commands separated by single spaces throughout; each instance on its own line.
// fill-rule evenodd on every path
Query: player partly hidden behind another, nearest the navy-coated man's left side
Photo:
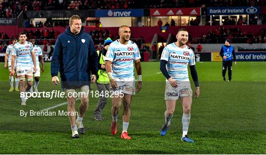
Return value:
M 33 44 L 33 51 L 36 57 L 36 72 L 33 73 L 34 75 L 34 80 L 35 80 L 35 84 L 34 84 L 34 92 L 38 92 L 38 85 L 40 82 L 40 72 L 44 72 L 44 61 L 42 58 L 42 51 L 41 48 L 37 45 L 35 45 L 35 40 L 32 38 L 30 39 L 30 42 Z M 41 70 L 40 70 L 40 62 L 41 62 Z M 32 63 L 33 65 L 33 63 Z M 30 89 L 31 92 L 33 92 L 33 87 Z

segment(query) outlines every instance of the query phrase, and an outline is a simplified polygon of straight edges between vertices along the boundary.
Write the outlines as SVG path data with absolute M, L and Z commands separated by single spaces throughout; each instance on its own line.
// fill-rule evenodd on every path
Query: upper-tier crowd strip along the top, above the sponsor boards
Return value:
M 0 17 L 29 10 L 261 6 L 266 0 L 0 0 Z

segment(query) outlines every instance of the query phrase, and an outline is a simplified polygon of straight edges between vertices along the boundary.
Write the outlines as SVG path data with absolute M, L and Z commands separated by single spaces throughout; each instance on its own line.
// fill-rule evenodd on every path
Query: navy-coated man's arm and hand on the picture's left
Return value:
M 53 57 L 51 60 L 51 76 L 52 76 L 52 82 L 54 85 L 58 85 L 60 83 L 57 75 L 59 71 L 61 51 L 62 51 L 61 40 L 60 40 L 60 37 L 58 37 L 56 39 Z

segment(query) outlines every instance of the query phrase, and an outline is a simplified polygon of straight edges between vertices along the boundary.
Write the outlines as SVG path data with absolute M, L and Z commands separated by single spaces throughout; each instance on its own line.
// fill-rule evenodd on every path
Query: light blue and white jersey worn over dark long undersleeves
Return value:
M 194 52 L 187 45 L 179 48 L 174 42 L 164 48 L 161 60 L 167 61 L 167 71 L 175 81 L 189 81 L 188 65 L 196 64 Z

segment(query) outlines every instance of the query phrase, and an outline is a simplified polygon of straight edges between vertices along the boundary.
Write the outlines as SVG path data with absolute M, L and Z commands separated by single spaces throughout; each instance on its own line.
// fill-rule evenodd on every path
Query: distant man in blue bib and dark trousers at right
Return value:
M 220 56 L 223 58 L 223 78 L 226 81 L 225 74 L 228 68 L 228 81 L 231 82 L 232 80 L 232 62 L 236 65 L 235 61 L 235 53 L 233 46 L 230 45 L 230 40 L 226 39 L 225 45 L 222 46 L 220 50 Z

